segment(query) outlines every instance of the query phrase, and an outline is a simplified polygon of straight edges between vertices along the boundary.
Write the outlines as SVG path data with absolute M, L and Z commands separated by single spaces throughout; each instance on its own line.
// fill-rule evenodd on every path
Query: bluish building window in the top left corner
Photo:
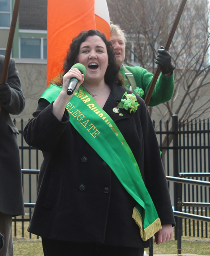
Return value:
M 0 27 L 10 27 L 11 0 L 0 0 Z

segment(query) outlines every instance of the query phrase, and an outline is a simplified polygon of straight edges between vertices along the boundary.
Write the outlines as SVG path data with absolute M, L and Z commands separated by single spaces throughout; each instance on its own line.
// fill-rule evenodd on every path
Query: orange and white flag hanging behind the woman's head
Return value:
M 90 29 L 97 29 L 110 39 L 106 0 L 48 0 L 47 86 L 62 69 L 72 39 Z

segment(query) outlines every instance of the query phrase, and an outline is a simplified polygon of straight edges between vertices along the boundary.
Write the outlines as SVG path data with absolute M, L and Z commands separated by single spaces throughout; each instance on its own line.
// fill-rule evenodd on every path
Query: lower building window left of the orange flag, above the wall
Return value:
M 46 38 L 20 38 L 20 57 L 47 59 Z

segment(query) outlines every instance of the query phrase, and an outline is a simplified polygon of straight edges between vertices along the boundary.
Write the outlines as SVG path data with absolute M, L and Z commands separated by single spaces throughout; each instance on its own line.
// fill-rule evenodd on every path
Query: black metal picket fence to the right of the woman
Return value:
M 195 172 L 199 176 L 188 177 L 200 181 L 210 181 L 200 173 L 210 172 L 210 125 L 209 119 L 199 121 L 178 122 L 174 115 L 171 130 L 166 126 L 166 131 L 156 132 L 160 136 L 160 150 L 165 153 L 165 170 L 169 176 L 178 177 L 180 172 Z M 165 135 L 165 140 L 161 137 Z M 171 138 L 173 141 L 171 142 Z M 163 141 L 165 144 L 163 145 Z M 170 152 L 171 151 L 171 152 Z M 183 211 L 201 216 L 210 216 L 210 207 L 195 205 L 182 206 L 178 202 L 183 198 L 186 202 L 210 202 L 210 188 L 202 185 L 173 183 L 173 202 L 175 211 Z M 172 193 L 171 193 L 172 194 Z M 176 217 L 176 222 L 178 221 Z M 175 239 L 177 239 L 175 227 Z M 210 237 L 210 224 L 203 221 L 184 219 L 182 234 L 185 236 Z

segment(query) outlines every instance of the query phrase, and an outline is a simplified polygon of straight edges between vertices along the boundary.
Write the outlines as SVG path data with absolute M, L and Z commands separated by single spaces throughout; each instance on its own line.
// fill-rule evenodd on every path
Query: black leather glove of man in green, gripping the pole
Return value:
M 171 54 L 164 49 L 163 46 L 160 47 L 157 52 L 157 58 L 155 60 L 155 63 L 157 65 L 160 65 L 161 71 L 163 75 L 171 73 L 175 66 L 171 62 Z

